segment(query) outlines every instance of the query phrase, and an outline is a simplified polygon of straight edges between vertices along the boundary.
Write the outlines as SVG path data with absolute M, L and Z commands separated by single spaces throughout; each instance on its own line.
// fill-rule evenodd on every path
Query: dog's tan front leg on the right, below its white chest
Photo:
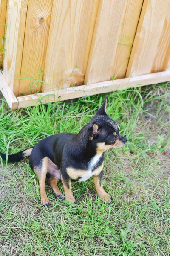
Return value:
M 110 204 L 112 201 L 112 198 L 111 198 L 111 195 L 106 193 L 102 187 L 102 177 L 103 177 L 103 171 L 100 172 L 98 176 L 93 176 L 96 191 L 99 197 L 102 199 L 102 201 L 105 201 Z

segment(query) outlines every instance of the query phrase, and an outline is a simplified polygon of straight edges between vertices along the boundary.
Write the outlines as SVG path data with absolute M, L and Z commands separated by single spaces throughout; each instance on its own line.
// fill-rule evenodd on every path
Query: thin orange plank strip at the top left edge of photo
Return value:
M 6 6 L 4 0 L 0 0 L 0 68 L 3 63 L 3 42 L 5 32 L 5 20 L 6 20 Z

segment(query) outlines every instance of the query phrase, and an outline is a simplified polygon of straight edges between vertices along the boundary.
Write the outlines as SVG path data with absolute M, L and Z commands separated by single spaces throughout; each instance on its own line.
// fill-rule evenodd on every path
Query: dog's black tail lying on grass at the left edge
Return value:
M 28 148 L 28 149 L 26 149 L 24 151 L 18 152 L 17 154 L 12 154 L 12 155 L 8 156 L 7 162 L 8 163 L 9 162 L 19 162 L 24 157 L 30 156 L 33 148 Z M 3 154 L 3 153 L 0 152 L 0 156 L 1 156 L 3 161 L 6 161 L 6 154 Z

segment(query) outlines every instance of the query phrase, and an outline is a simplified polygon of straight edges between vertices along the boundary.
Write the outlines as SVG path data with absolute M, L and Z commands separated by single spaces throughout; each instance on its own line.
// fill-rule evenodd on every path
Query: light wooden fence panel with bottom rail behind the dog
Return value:
M 11 108 L 170 80 L 170 0 L 0 0 L 1 39 Z

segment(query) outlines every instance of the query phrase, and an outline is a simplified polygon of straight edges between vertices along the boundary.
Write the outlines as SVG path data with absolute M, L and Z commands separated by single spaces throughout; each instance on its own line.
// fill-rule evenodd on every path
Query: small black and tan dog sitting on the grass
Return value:
M 41 204 L 49 204 L 45 180 L 56 198 L 75 203 L 71 180 L 86 181 L 93 176 L 96 192 L 102 201 L 111 203 L 111 195 L 102 187 L 104 154 L 110 148 L 121 148 L 127 138 L 119 134 L 120 127 L 107 114 L 108 97 L 91 121 L 78 134 L 55 134 L 38 142 L 34 147 L 8 156 L 8 162 L 17 162 L 29 156 L 29 165 L 38 179 Z M 0 153 L 6 161 L 6 154 Z M 65 196 L 57 183 L 62 180 Z

